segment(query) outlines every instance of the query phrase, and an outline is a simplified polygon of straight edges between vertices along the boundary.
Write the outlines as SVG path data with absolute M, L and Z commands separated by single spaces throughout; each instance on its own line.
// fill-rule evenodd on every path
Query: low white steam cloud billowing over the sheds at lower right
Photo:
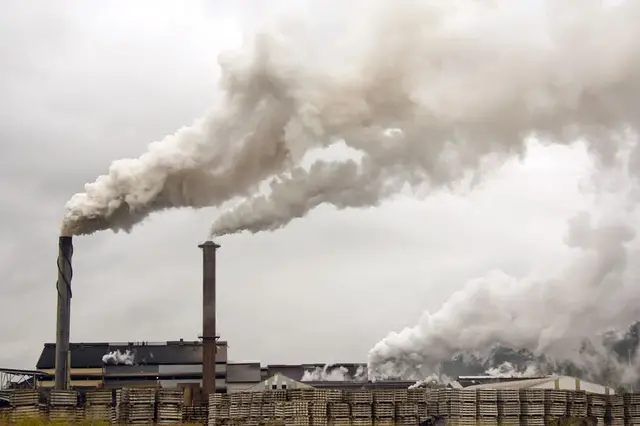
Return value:
M 516 279 L 493 271 L 469 282 L 438 311 L 425 312 L 416 326 L 375 345 L 370 374 L 385 374 L 389 364 L 425 374 L 459 352 L 502 345 L 570 360 L 594 377 L 607 371 L 621 382 L 637 380 L 637 366 L 623 365 L 603 345 L 603 332 L 627 327 L 640 316 L 634 285 L 640 271 L 627 267 L 627 245 L 635 237 L 628 223 L 637 215 L 625 210 L 631 189 L 618 191 L 621 198 L 618 192 L 597 197 L 607 210 L 598 226 L 588 213 L 569 221 L 566 243 L 577 253 L 560 275 L 548 271 Z M 585 338 L 590 339 L 586 348 Z

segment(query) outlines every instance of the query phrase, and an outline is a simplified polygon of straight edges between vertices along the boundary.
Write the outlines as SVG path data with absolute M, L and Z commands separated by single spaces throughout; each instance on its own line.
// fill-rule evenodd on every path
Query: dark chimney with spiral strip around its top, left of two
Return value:
M 71 237 L 58 240 L 58 313 L 56 322 L 56 389 L 69 389 L 69 328 L 71 325 Z

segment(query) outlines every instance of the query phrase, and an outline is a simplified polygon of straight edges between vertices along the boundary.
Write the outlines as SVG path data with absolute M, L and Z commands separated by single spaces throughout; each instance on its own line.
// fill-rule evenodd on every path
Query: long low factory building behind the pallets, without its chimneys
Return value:
M 69 383 L 74 389 L 121 387 L 179 387 L 198 392 L 202 386 L 202 342 L 126 342 L 71 343 Z M 125 360 L 109 354 L 130 354 Z M 128 364 L 125 363 L 128 361 Z M 37 385 L 55 386 L 55 344 L 44 345 L 36 369 Z M 259 361 L 233 362 L 227 359 L 227 343 L 217 342 L 216 392 L 232 393 L 257 388 L 350 389 L 362 387 L 407 388 L 412 381 L 366 381 L 366 364 L 274 364 L 261 366 Z M 359 380 L 353 380 L 358 377 Z M 346 380 L 345 380 L 346 378 Z

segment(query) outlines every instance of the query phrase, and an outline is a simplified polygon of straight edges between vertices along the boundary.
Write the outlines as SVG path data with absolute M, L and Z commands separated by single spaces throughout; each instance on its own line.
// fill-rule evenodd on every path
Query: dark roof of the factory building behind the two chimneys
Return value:
M 218 346 L 226 346 L 218 341 Z M 110 352 L 127 350 L 134 353 L 136 364 L 172 365 L 201 364 L 202 343 L 173 341 L 162 343 L 71 343 L 71 368 L 102 368 L 102 357 Z M 55 368 L 55 343 L 46 343 L 36 364 L 39 370 Z M 226 351 L 225 351 L 226 352 Z M 226 356 L 226 353 L 225 353 Z

